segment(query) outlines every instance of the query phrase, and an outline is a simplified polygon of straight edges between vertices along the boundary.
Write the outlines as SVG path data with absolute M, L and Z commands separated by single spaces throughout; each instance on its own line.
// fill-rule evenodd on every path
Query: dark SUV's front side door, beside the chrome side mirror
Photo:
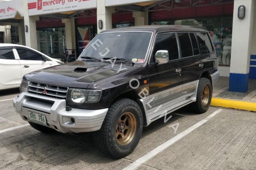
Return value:
M 155 53 L 159 50 L 167 50 L 169 58 L 155 59 Z M 157 34 L 151 58 L 150 105 L 154 108 L 181 96 L 182 71 L 177 34 L 173 32 Z M 158 60 L 159 64 L 155 64 L 155 60 Z

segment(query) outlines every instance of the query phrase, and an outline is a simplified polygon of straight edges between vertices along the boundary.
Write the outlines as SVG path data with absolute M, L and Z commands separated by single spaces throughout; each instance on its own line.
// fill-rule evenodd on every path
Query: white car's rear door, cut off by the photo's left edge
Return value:
M 22 81 L 21 66 L 15 58 L 13 47 L 0 47 L 0 83 L 19 85 Z

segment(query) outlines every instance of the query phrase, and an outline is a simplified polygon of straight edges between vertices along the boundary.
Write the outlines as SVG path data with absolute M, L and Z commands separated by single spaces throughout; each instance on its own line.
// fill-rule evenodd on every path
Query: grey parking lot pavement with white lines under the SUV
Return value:
M 115 160 L 97 150 L 91 133 L 33 129 L 14 111 L 18 93 L 0 91 L 0 169 L 256 169 L 255 112 L 210 107 L 198 115 L 187 106 L 145 127 L 134 152 Z

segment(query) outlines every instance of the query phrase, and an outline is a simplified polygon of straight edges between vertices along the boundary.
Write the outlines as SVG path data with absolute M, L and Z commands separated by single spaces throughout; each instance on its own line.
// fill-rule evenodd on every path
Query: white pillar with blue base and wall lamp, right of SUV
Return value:
M 238 7 L 245 6 L 245 17 L 238 18 Z M 254 0 L 235 0 L 230 61 L 230 91 L 246 92 L 251 56 Z

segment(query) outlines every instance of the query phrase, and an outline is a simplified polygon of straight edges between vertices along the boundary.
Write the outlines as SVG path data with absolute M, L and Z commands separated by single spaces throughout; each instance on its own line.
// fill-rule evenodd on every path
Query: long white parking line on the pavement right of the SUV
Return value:
M 139 159 L 137 159 L 136 161 L 134 161 L 132 164 L 130 164 L 129 166 L 127 166 L 126 168 L 124 168 L 123 170 L 134 170 L 136 169 L 138 166 L 140 166 L 142 163 L 148 161 L 150 158 L 154 157 L 155 155 L 157 155 L 158 153 L 162 152 L 164 149 L 168 148 L 170 145 L 174 144 L 175 142 L 177 142 L 178 140 L 180 140 L 181 138 L 183 138 L 184 136 L 186 136 L 187 134 L 189 134 L 190 132 L 194 131 L 196 128 L 200 127 L 203 123 L 206 123 L 209 119 L 213 118 L 213 116 L 217 115 L 218 113 L 220 113 L 223 109 L 218 109 L 215 112 L 213 112 L 211 115 L 209 115 L 208 117 L 206 117 L 205 119 L 199 121 L 198 123 L 195 123 L 193 126 L 189 127 L 188 129 L 186 129 L 185 131 L 181 132 L 180 134 L 178 134 L 177 136 L 174 136 L 172 139 L 166 141 L 165 143 L 161 144 L 160 146 L 158 146 L 157 148 L 151 150 L 149 153 L 147 153 L 146 155 L 140 157 Z

